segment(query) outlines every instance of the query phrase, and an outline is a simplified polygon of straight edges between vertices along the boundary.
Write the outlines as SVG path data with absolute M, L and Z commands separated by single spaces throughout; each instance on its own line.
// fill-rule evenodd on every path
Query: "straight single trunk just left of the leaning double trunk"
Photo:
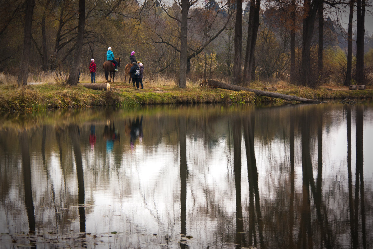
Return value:
M 236 23 L 234 33 L 234 61 L 233 61 L 233 85 L 242 84 L 241 57 L 242 57 L 242 0 L 237 0 Z

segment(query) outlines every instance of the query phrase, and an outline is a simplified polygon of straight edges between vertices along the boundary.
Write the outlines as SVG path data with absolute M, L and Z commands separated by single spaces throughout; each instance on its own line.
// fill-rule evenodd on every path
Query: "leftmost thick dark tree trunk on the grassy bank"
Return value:
M 28 64 L 30 58 L 31 50 L 31 28 L 32 28 L 32 14 L 34 13 L 35 0 L 26 0 L 26 14 L 25 14 L 25 28 L 23 37 L 23 49 L 22 49 L 22 59 L 21 67 L 19 69 L 19 75 L 17 79 L 17 84 L 27 85 L 28 77 Z

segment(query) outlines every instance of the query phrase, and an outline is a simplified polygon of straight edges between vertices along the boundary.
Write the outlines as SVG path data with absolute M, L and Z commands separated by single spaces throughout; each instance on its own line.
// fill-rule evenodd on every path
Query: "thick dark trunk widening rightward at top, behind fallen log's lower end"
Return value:
M 320 0 L 305 0 L 303 4 L 303 37 L 302 37 L 302 66 L 300 75 L 300 84 L 315 87 L 314 78 L 311 75 L 311 40 L 313 35 L 313 26 L 316 12 Z

